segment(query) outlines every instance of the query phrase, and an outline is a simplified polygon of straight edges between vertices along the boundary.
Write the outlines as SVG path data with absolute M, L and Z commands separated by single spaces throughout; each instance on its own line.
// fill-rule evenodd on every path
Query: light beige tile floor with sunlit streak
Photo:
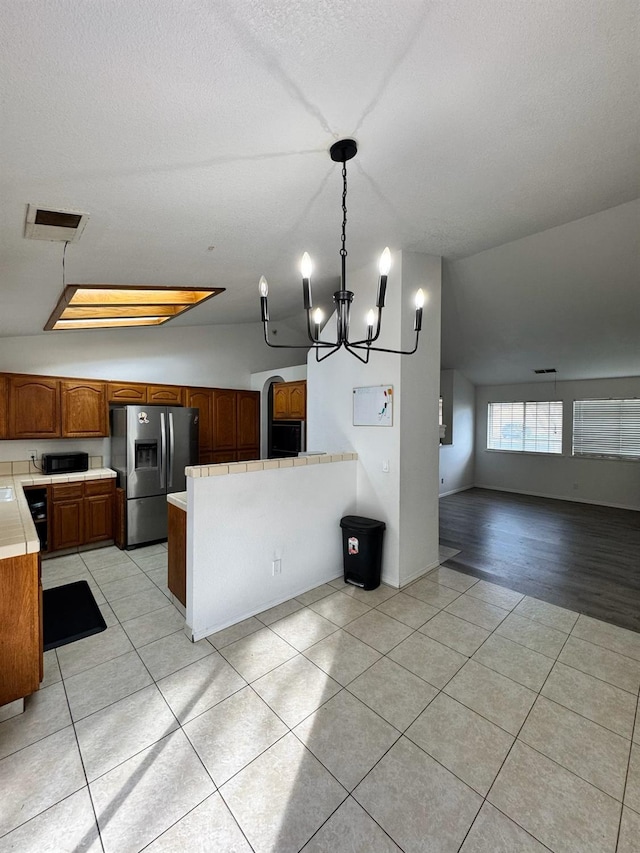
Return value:
M 166 548 L 47 560 L 106 631 L 0 723 L 0 853 L 631 853 L 640 635 L 446 565 L 192 644 Z

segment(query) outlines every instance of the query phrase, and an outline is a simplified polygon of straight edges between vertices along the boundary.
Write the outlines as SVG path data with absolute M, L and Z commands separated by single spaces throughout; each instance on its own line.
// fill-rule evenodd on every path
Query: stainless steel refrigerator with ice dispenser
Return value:
M 111 467 L 126 494 L 126 547 L 167 538 L 167 494 L 198 464 L 198 409 L 111 406 Z

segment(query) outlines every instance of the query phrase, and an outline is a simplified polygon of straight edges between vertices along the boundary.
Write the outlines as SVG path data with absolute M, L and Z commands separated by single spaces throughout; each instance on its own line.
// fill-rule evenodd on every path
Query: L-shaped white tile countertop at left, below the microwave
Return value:
M 0 502 L 0 560 L 40 550 L 40 540 L 31 518 L 23 486 L 47 486 L 50 483 L 77 483 L 78 480 L 102 480 L 116 476 L 110 468 L 90 468 L 75 474 L 0 475 L 0 487 L 13 489 L 14 500 Z

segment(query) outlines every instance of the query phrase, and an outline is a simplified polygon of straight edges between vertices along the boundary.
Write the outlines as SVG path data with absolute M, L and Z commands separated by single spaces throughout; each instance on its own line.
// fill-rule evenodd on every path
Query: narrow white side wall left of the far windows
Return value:
M 442 374 L 441 390 L 444 378 L 452 401 L 447 432 L 451 431 L 453 441 L 440 445 L 440 497 L 474 485 L 475 439 L 475 386 L 458 370 Z

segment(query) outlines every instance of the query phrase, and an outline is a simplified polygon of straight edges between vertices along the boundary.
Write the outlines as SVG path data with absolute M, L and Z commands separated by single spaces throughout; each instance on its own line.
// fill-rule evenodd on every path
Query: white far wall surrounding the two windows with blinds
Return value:
M 640 510 L 640 463 L 571 456 L 573 401 L 608 397 L 640 397 L 640 377 L 476 388 L 476 485 Z M 486 450 L 488 403 L 515 400 L 563 401 L 562 456 Z

